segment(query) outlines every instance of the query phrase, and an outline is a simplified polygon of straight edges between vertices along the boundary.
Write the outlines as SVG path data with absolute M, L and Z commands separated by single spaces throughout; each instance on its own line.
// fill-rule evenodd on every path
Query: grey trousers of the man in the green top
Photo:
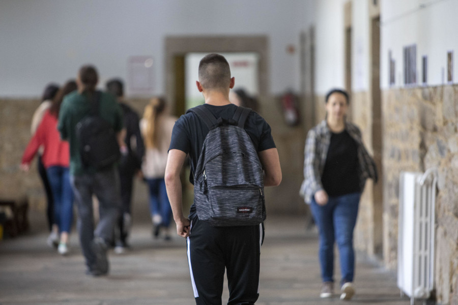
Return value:
M 120 179 L 116 167 L 93 174 L 71 176 L 71 184 L 78 208 L 78 233 L 86 265 L 93 269 L 96 257 L 92 250 L 94 237 L 109 243 L 121 206 Z M 99 222 L 94 228 L 92 195 L 99 201 Z

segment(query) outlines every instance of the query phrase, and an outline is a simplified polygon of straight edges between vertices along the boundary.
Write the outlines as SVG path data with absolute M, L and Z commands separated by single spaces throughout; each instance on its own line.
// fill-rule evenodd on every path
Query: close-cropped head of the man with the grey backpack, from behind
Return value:
M 226 58 L 220 54 L 208 54 L 199 63 L 199 82 L 205 89 L 228 89 L 231 69 Z

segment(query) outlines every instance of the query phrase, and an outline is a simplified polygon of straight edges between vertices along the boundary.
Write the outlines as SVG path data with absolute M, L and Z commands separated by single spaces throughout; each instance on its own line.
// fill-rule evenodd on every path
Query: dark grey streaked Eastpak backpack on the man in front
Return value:
M 199 220 L 212 226 L 259 225 L 266 219 L 263 167 L 244 130 L 251 109 L 238 107 L 232 120 L 204 106 L 194 112 L 210 132 L 194 173 L 194 204 Z

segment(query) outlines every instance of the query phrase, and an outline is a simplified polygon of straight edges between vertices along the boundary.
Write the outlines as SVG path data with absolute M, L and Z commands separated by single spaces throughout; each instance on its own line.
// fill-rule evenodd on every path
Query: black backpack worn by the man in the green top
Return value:
M 79 153 L 84 167 L 101 170 L 121 157 L 116 132 L 99 114 L 101 92 L 95 92 L 91 112 L 75 127 Z

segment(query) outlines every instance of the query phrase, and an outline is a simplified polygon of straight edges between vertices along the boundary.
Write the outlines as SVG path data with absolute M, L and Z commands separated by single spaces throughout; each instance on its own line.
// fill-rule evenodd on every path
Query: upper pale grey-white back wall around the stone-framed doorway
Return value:
M 154 59 L 151 94 L 163 94 L 164 38 L 267 35 L 270 93 L 299 89 L 299 38 L 309 0 L 0 0 L 0 97 L 36 97 L 87 63 L 101 84 L 127 78 L 130 56 Z M 288 45 L 296 52 L 286 51 Z M 129 91 L 127 91 L 129 95 Z

